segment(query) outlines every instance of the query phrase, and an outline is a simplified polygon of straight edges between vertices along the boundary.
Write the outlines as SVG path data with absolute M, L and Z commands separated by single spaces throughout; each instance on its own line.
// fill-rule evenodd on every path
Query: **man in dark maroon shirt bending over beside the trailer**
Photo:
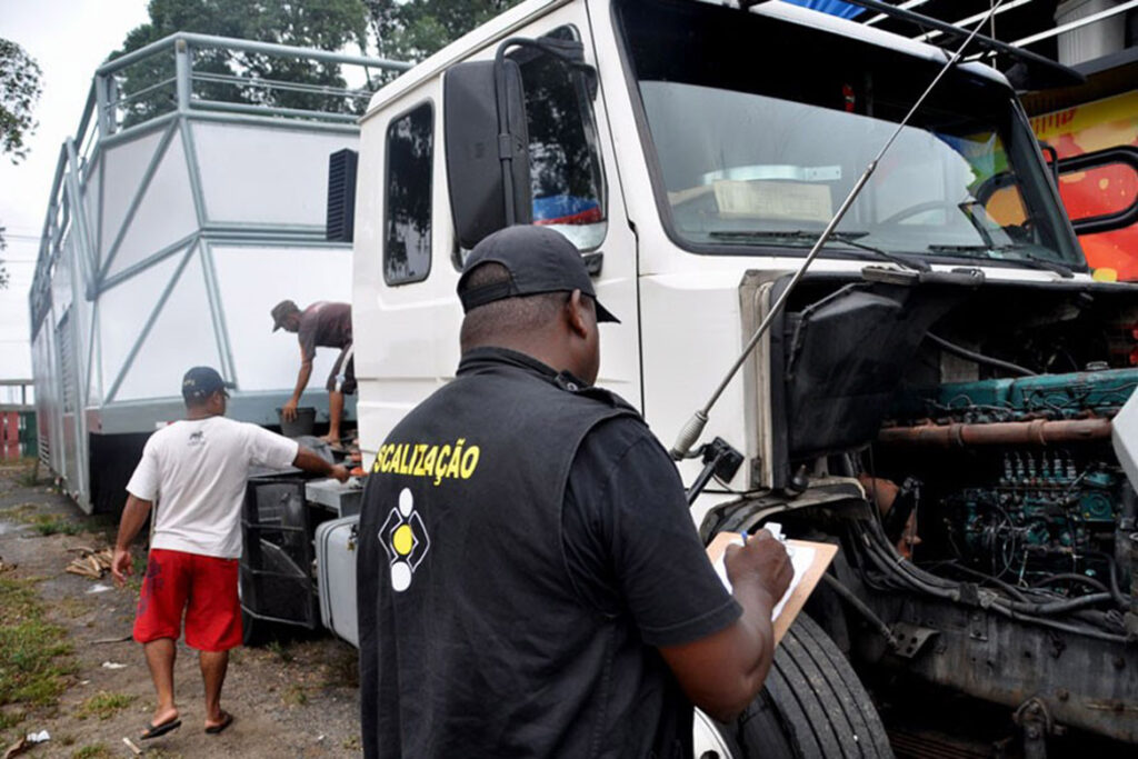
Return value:
M 312 376 L 312 360 L 316 348 L 339 348 L 332 372 L 328 376 L 328 436 L 336 445 L 340 440 L 340 418 L 344 415 L 344 395 L 355 393 L 355 356 L 352 346 L 352 306 L 346 303 L 318 300 L 300 311 L 291 300 L 281 300 L 272 310 L 273 331 L 284 329 L 294 332 L 300 343 L 300 372 L 296 379 L 292 397 L 281 407 L 284 421 L 296 419 L 296 407 L 300 395 L 308 387 Z

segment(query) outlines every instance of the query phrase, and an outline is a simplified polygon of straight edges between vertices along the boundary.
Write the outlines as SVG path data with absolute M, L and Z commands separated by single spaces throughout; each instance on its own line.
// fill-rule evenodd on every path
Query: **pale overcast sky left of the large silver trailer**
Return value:
M 147 0 L 0 0 L 0 38 L 22 46 L 43 72 L 40 125 L 27 158 L 0 156 L 0 254 L 11 275 L 0 290 L 0 379 L 32 377 L 27 290 L 48 209 L 59 147 L 79 126 L 94 69 L 148 20 Z M 0 403 L 5 398 L 0 396 Z

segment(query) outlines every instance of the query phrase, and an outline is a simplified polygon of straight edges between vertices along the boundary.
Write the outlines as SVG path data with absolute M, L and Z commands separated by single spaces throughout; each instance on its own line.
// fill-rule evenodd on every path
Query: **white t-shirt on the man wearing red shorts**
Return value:
M 284 469 L 295 440 L 224 416 L 174 422 L 150 436 L 126 489 L 155 504 L 150 546 L 241 555 L 241 503 L 255 465 Z

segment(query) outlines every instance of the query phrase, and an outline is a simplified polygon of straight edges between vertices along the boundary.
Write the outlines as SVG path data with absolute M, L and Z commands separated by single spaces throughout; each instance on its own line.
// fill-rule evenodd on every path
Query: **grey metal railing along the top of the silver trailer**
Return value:
M 266 77 L 265 61 L 297 61 L 300 80 Z M 179 32 L 115 58 L 96 71 L 75 137 L 59 151 L 28 294 L 33 338 L 51 307 L 53 269 L 68 234 L 91 250 L 83 189 L 100 149 L 127 133 L 158 129 L 172 118 L 304 122 L 353 129 L 372 92 L 411 64 L 270 42 Z M 272 67 L 267 67 L 272 69 Z M 348 86 L 345 71 L 358 86 Z M 315 72 L 315 73 L 314 73 Z M 93 297 L 100 272 L 80 255 L 79 294 Z

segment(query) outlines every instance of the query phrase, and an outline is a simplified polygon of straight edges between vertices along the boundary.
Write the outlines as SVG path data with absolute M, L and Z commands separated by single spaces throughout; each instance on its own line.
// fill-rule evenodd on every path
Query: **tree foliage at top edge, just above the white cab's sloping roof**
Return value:
M 419 61 L 520 0 L 363 0 L 379 56 Z

